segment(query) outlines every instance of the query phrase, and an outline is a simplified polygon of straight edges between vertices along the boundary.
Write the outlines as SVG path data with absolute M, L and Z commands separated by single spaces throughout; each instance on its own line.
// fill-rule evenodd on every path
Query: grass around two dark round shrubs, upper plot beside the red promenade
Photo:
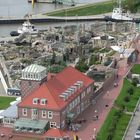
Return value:
M 129 95 L 129 93 L 127 93 L 127 89 L 129 87 L 133 87 L 134 89 L 134 94 L 130 95 L 130 101 L 129 102 L 125 102 L 124 101 L 124 97 L 126 95 Z M 121 89 L 121 93 L 119 95 L 119 97 L 117 98 L 117 100 L 115 101 L 116 105 L 122 107 L 125 106 L 125 108 L 128 111 L 133 111 L 137 101 L 139 100 L 139 96 L 140 96 L 140 88 L 139 87 L 134 87 L 130 81 L 128 81 L 127 79 L 124 79 L 124 83 L 123 83 L 123 87 Z

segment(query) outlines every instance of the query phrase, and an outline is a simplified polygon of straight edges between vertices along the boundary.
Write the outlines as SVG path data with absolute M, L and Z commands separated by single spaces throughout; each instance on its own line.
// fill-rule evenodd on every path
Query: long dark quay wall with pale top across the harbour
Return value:
M 28 18 L 32 23 L 45 23 L 45 22 L 80 22 L 80 21 L 112 21 L 112 22 L 125 22 L 122 20 L 113 20 L 104 15 L 97 16 L 73 16 L 73 17 L 54 17 L 46 15 L 33 15 Z M 1 18 L 0 24 L 19 24 L 26 21 L 26 18 Z M 140 19 L 134 19 L 129 22 L 140 23 Z

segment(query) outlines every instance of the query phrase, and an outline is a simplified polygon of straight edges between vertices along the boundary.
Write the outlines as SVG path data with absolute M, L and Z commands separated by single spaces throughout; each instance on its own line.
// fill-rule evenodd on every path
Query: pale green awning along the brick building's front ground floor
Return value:
M 46 120 L 31 120 L 20 118 L 14 123 L 14 126 L 19 128 L 44 129 L 47 124 L 48 121 Z

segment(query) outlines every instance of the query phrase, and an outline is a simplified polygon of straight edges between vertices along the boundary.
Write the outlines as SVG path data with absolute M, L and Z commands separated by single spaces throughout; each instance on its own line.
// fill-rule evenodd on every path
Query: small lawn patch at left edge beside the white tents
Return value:
M 14 101 L 15 97 L 3 97 L 0 96 L 0 110 L 6 109 L 10 106 L 10 102 Z

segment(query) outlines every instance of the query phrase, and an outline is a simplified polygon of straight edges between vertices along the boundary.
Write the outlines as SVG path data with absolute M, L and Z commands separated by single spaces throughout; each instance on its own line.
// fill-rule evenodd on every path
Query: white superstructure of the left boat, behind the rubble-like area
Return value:
M 19 34 L 23 34 L 23 33 L 37 34 L 38 29 L 36 29 L 35 26 L 31 24 L 29 21 L 25 21 L 22 24 L 22 27 L 19 28 L 17 32 Z

